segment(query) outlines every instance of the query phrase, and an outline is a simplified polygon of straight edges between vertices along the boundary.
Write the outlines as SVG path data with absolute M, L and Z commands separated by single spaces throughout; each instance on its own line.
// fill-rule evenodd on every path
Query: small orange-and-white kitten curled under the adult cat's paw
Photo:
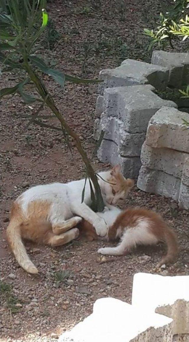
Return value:
M 115 208 L 100 215 L 102 218 L 106 217 L 106 222 L 109 225 L 107 240 L 114 241 L 120 238 L 121 242 L 116 247 L 99 248 L 98 253 L 124 255 L 136 248 L 137 245 L 154 245 L 159 241 L 164 241 L 168 251 L 158 266 L 176 260 L 178 255 L 176 236 L 156 212 L 144 208 L 131 208 L 124 211 Z M 94 227 L 89 222 L 81 221 L 79 228 L 88 240 L 98 238 Z

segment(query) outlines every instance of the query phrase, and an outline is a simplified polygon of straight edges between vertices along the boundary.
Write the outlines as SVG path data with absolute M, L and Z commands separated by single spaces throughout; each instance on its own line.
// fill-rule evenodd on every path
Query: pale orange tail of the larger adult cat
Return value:
M 22 223 L 19 215 L 15 215 L 14 205 L 12 209 L 10 224 L 7 227 L 6 234 L 9 241 L 10 247 L 15 255 L 18 264 L 25 269 L 28 273 L 36 274 L 38 269 L 31 262 L 26 249 L 22 243 L 20 234 L 20 225 Z

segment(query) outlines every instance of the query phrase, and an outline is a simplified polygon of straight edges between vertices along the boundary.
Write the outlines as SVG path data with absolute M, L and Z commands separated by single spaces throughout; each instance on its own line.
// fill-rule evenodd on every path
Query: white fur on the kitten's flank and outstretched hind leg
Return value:
M 129 252 L 137 245 L 154 245 L 158 239 L 149 231 L 149 220 L 139 219 L 136 227 L 125 227 L 121 237 L 121 242 L 116 247 L 99 248 L 98 253 L 108 255 L 122 255 Z M 121 235 L 121 230 L 117 229 L 117 236 Z

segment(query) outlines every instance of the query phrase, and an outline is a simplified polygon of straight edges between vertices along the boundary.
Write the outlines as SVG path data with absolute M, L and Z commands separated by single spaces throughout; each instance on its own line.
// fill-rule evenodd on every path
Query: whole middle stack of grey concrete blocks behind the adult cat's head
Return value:
M 162 106 L 176 107 L 162 100 L 151 85 L 107 88 L 104 91 L 100 121 L 95 122 L 95 137 L 105 132 L 98 158 L 112 165 L 119 163 L 126 177 L 137 178 L 140 153 L 149 119 Z

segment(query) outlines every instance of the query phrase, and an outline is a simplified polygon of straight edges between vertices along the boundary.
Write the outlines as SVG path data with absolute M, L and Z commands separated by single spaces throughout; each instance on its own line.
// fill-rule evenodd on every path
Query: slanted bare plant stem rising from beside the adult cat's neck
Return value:
M 52 110 L 52 112 L 56 115 L 56 117 L 60 121 L 62 131 L 63 132 L 66 131 L 67 134 L 74 139 L 75 146 L 76 146 L 78 152 L 80 153 L 80 155 L 83 159 L 83 162 L 85 163 L 87 174 L 91 178 L 93 185 L 94 185 L 94 188 L 95 188 L 96 209 L 99 212 L 103 211 L 104 210 L 104 201 L 103 201 L 103 198 L 101 195 L 100 187 L 98 184 L 98 179 L 97 179 L 97 176 L 93 170 L 93 167 L 92 167 L 85 151 L 83 150 L 83 147 L 81 145 L 81 142 L 80 142 L 78 135 L 69 127 L 66 120 L 63 118 L 62 114 L 59 112 L 58 108 L 56 107 L 56 105 L 53 101 L 53 98 L 51 97 L 51 95 L 46 90 L 44 84 L 42 83 L 42 81 L 38 78 L 38 76 L 34 73 L 32 68 L 30 67 L 28 60 L 27 60 L 27 57 L 23 57 L 23 59 L 24 59 L 25 69 L 26 69 L 28 75 L 30 76 L 33 83 L 35 84 L 35 86 L 36 86 L 39 94 L 43 98 L 44 102 L 47 104 L 47 106 Z

